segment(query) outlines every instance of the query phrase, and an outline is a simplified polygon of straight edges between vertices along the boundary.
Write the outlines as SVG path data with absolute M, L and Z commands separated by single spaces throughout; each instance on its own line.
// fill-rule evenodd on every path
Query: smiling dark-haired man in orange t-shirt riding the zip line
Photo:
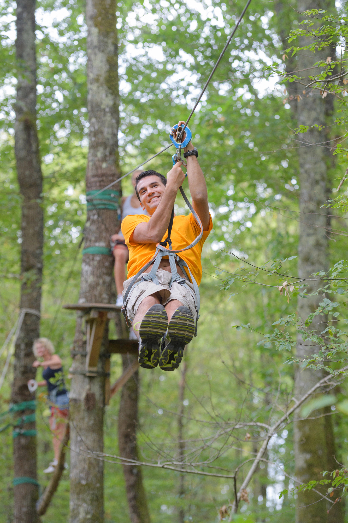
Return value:
M 202 247 L 213 223 L 197 150 L 189 142 L 184 152 L 189 153 L 187 174 L 192 207 L 202 222 L 203 236 L 194 247 L 180 253 L 180 258 L 187 263 L 199 285 L 202 278 Z M 153 258 L 156 244 L 165 241 L 171 211 L 184 178 L 180 163 L 171 168 L 167 179 L 154 170 L 144 171 L 136 177 L 135 192 L 148 216 L 130 214 L 122 221 L 121 230 L 130 256 L 123 295 L 137 272 Z M 199 233 L 200 226 L 192 213 L 175 216 L 171 231 L 173 251 L 191 244 Z M 183 356 L 184 346 L 194 334 L 198 311 L 193 285 L 189 275 L 184 274 L 176 264 L 179 275 L 185 280 L 184 286 L 174 281 L 169 287 L 171 269 L 168 256 L 163 257 L 156 272 L 158 283 L 144 281 L 140 276 L 140 283 L 132 288 L 124 304 L 126 315 L 129 320 L 133 320 L 134 332 L 139 336 L 139 362 L 145 368 L 152 369 L 159 363 L 162 370 L 176 369 Z M 150 272 L 151 268 L 152 265 L 143 274 Z

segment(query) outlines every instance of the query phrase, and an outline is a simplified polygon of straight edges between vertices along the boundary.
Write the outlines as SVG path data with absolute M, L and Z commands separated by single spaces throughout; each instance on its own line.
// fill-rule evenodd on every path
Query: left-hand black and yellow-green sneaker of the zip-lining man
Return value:
M 160 339 L 167 332 L 168 316 L 163 305 L 157 303 L 150 307 L 140 324 L 139 363 L 144 369 L 154 369 L 158 365 Z

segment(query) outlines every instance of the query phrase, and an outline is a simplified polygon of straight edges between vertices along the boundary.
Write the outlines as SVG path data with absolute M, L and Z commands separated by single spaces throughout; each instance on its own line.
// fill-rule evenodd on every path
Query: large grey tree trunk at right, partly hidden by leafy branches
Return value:
M 298 11 L 303 13 L 307 9 L 329 9 L 334 7 L 332 2 L 310 2 L 299 0 Z M 307 37 L 302 37 L 299 46 L 308 43 Z M 316 56 L 311 53 L 299 53 L 297 69 L 304 70 L 312 67 L 318 59 L 326 60 L 328 49 L 317 51 Z M 306 74 L 306 73 L 301 73 Z M 306 79 L 305 79 L 306 81 Z M 310 82 L 308 78 L 308 83 Z M 331 95 L 329 95 L 330 97 Z M 312 128 L 314 124 L 326 126 L 331 111 L 332 100 L 323 99 L 319 90 L 306 90 L 300 93 L 300 97 L 293 109 L 296 111 L 298 127 L 303 124 L 309 126 L 306 133 L 298 134 L 298 140 L 303 144 L 319 144 L 328 140 L 326 131 Z M 297 107 L 296 107 L 297 106 Z M 301 145 L 301 144 L 300 144 Z M 321 208 L 328 199 L 328 177 L 330 158 L 326 149 L 319 145 L 308 145 L 299 147 L 299 244 L 298 244 L 298 275 L 300 278 L 309 278 L 311 274 L 328 269 L 328 236 L 329 220 L 327 210 Z M 322 283 L 306 282 L 307 292 L 311 293 L 322 287 Z M 308 299 L 298 299 L 298 314 L 305 321 L 308 315 L 318 308 L 322 301 L 322 294 L 311 296 Z M 327 326 L 326 316 L 315 316 L 309 329 L 315 329 L 320 334 Z M 302 340 L 301 335 L 297 337 L 296 355 L 300 358 L 318 353 L 320 347 Z M 313 370 L 296 369 L 295 372 L 295 396 L 305 394 L 312 385 L 322 378 L 322 372 Z M 321 411 L 322 412 L 322 411 Z M 316 414 L 319 414 L 317 412 Z M 331 426 L 331 436 L 332 426 Z M 321 471 L 327 468 L 327 438 L 328 427 L 326 420 L 322 417 L 315 420 L 304 420 L 295 424 L 295 474 L 299 483 L 307 483 L 310 480 L 322 479 Z M 326 523 L 327 502 L 320 501 L 320 496 L 315 491 L 305 491 L 298 494 L 296 523 Z M 342 523 L 342 517 L 336 519 Z

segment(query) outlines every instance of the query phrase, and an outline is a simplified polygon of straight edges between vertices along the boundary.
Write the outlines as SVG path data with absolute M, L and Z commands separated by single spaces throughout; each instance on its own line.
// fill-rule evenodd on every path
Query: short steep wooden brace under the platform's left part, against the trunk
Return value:
M 86 340 L 86 376 L 93 376 L 97 372 L 98 359 L 101 342 L 103 339 L 105 324 L 107 322 L 107 311 L 91 311 L 93 314 L 86 318 L 87 340 Z M 98 314 L 97 317 L 96 313 Z

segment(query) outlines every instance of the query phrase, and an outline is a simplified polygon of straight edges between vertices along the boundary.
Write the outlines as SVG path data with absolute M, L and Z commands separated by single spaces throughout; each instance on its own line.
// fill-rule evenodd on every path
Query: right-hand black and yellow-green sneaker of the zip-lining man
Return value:
M 187 307 L 180 306 L 172 315 L 168 324 L 170 342 L 161 351 L 159 367 L 161 370 L 172 371 L 179 367 L 185 345 L 191 342 L 194 335 L 193 316 Z

